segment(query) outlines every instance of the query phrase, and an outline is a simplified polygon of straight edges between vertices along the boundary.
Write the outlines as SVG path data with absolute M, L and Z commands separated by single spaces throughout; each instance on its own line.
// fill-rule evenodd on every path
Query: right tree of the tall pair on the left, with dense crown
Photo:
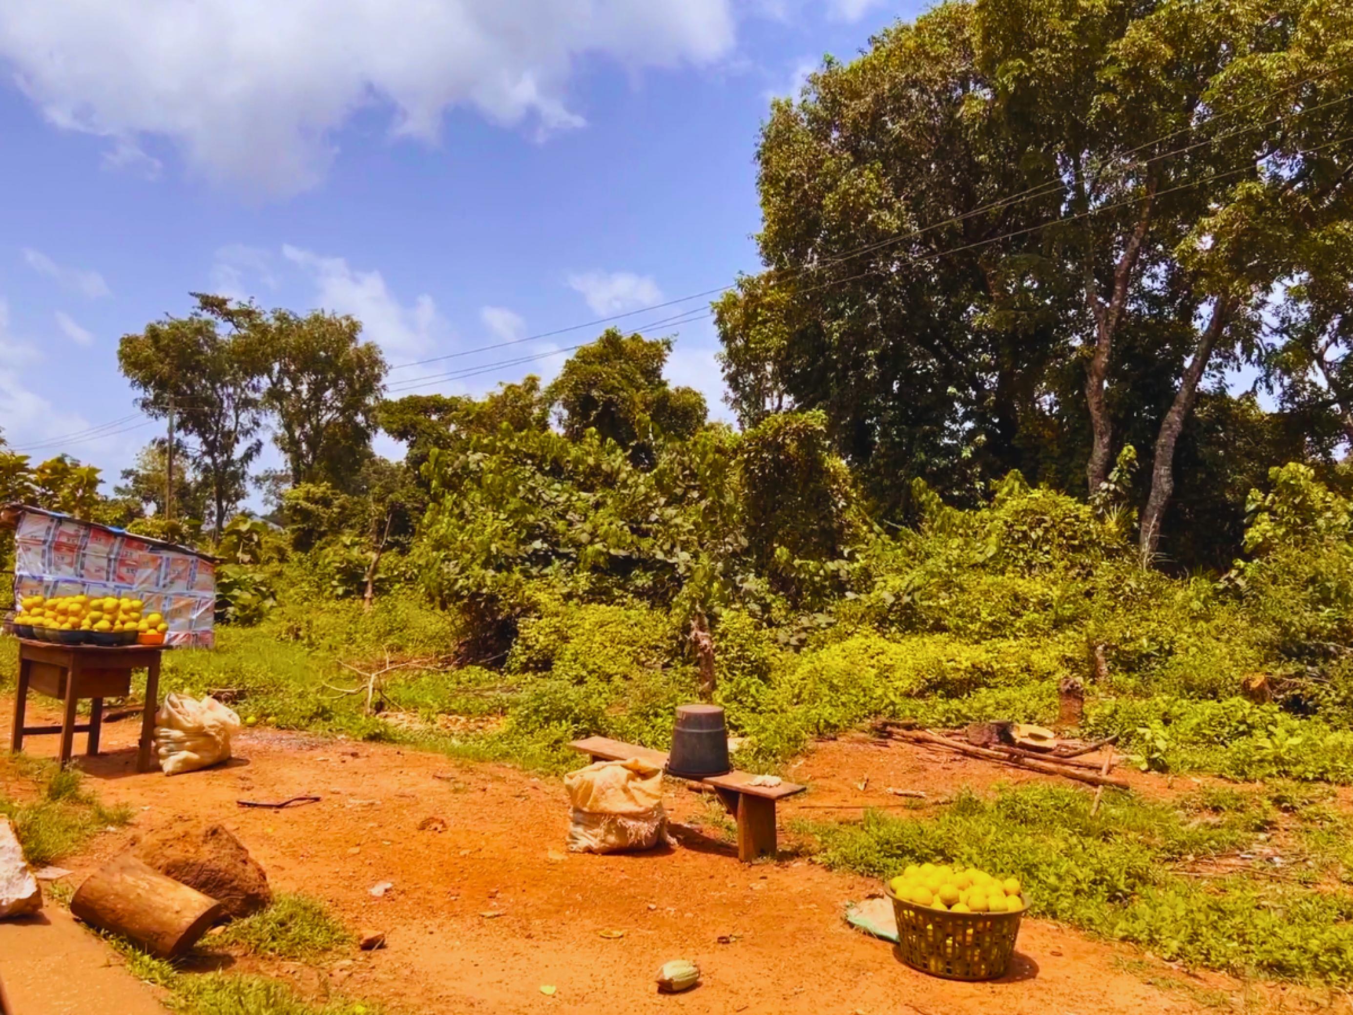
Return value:
M 252 321 L 248 333 L 264 369 L 262 406 L 292 486 L 353 489 L 371 457 L 386 376 L 380 349 L 361 341 L 356 318 L 319 310 L 306 317 L 273 310 Z

